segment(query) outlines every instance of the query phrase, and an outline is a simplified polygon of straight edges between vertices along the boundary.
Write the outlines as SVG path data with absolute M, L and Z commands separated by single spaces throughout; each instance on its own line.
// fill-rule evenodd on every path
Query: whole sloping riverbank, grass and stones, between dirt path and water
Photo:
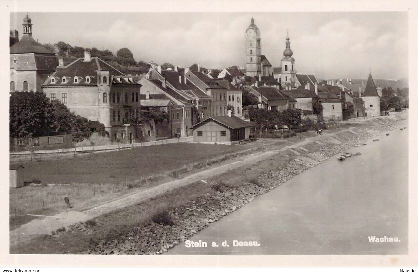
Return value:
M 53 236 L 46 236 L 40 247 L 15 249 L 16 253 L 78 253 L 78 254 L 159 254 L 186 240 L 211 222 L 247 204 L 255 196 L 280 186 L 289 178 L 307 168 L 318 165 L 330 156 L 346 151 L 375 135 L 404 126 L 407 116 L 394 119 L 382 117 L 353 129 L 324 134 L 320 140 L 306 142 L 297 148 L 279 151 L 265 158 L 256 166 L 238 168 L 233 172 L 196 181 L 178 191 L 194 194 L 189 202 L 174 202 L 171 207 L 159 208 L 166 213 L 161 218 L 170 225 L 155 224 L 155 207 L 161 200 L 176 196 L 169 192 L 158 199 L 127 207 L 112 214 L 103 215 L 82 225 L 72 225 Z M 125 219 L 125 225 L 106 230 L 110 223 Z M 129 219 L 129 220 L 126 220 Z M 167 221 L 170 220 L 170 221 Z M 59 238 L 59 240 L 58 240 Z M 76 239 L 77 238 L 77 239 Z M 61 247 L 56 247 L 56 241 Z M 80 244 L 77 242 L 80 241 Z M 71 242 L 71 243 L 69 243 Z M 69 245 L 73 245 L 72 247 Z M 55 246 L 55 248 L 53 247 Z M 12 252 L 12 250 L 11 250 Z

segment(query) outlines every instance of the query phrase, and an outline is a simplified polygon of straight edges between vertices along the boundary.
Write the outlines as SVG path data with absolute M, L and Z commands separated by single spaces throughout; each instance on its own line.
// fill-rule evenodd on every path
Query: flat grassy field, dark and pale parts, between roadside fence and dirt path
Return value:
M 41 184 L 10 189 L 10 215 L 53 215 L 86 209 L 246 149 L 243 145 L 173 143 L 24 163 L 24 180 L 37 179 Z M 71 209 L 65 206 L 65 196 L 69 196 Z M 21 222 L 26 221 L 11 217 L 10 228 Z

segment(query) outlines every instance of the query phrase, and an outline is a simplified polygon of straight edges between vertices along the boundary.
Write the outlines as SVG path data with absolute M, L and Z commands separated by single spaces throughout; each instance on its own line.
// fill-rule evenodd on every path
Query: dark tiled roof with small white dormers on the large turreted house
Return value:
M 76 61 L 72 62 L 71 64 L 64 66 L 64 67 L 56 67 L 56 72 L 52 74 L 53 77 L 56 78 L 54 84 L 51 84 L 49 80 L 44 82 L 44 85 L 48 86 L 56 86 L 56 85 L 97 85 L 97 71 L 109 71 L 109 76 L 122 76 L 127 77 L 125 74 L 120 72 L 119 70 L 115 69 L 114 67 L 110 66 L 103 60 L 99 59 L 98 57 L 92 57 L 90 61 L 84 61 L 84 58 L 79 58 Z M 74 82 L 74 77 L 79 76 L 82 77 L 78 83 Z M 86 82 L 86 77 L 90 76 L 90 82 Z M 69 77 L 66 83 L 62 84 L 62 78 Z M 108 79 L 110 81 L 110 79 Z M 121 79 L 117 81 L 115 78 L 113 79 L 114 84 L 138 84 L 136 82 L 128 82 L 125 79 Z

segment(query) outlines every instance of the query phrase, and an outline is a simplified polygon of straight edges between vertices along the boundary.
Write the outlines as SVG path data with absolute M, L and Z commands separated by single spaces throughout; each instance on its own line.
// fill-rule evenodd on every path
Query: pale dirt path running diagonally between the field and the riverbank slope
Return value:
M 161 184 L 159 186 L 146 189 L 144 191 L 136 192 L 129 196 L 125 196 L 121 199 L 114 200 L 106 204 L 98 205 L 97 207 L 86 210 L 84 212 L 75 212 L 75 211 L 62 212 L 60 214 L 55 215 L 57 218 L 47 217 L 47 219 L 33 220 L 29 223 L 26 223 L 25 225 L 18 227 L 15 230 L 10 231 L 10 246 L 19 244 L 20 242 L 26 242 L 27 240 L 31 238 L 32 235 L 51 234 L 51 232 L 59 228 L 67 227 L 77 222 L 85 222 L 99 215 L 106 214 L 117 209 L 122 209 L 127 206 L 135 205 L 140 202 L 144 202 L 152 197 L 159 196 L 167 191 L 171 191 L 181 186 L 186 186 L 188 184 L 194 183 L 195 181 L 208 179 L 211 176 L 219 175 L 227 171 L 231 171 L 235 168 L 239 168 L 239 167 L 247 166 L 247 165 L 254 165 L 255 163 L 259 161 L 263 161 L 266 158 L 276 153 L 280 153 L 280 152 L 293 149 L 293 148 L 298 148 L 302 145 L 306 145 L 314 141 L 319 141 L 324 138 L 330 139 L 336 133 L 341 133 L 341 132 L 349 131 L 352 129 L 353 127 L 350 127 L 348 129 L 337 131 L 334 133 L 324 133 L 323 135 L 310 137 L 299 143 L 288 145 L 283 148 L 271 148 L 267 146 L 266 148 L 271 148 L 270 151 L 263 151 L 263 152 L 258 152 L 258 153 L 250 154 L 247 156 L 243 156 L 239 160 L 234 161 L 232 163 L 228 163 L 222 166 L 217 166 L 217 167 L 210 168 L 204 171 L 200 171 L 198 173 L 194 173 L 189 176 L 186 176 L 182 179 L 173 180 L 165 184 Z M 266 143 L 266 145 L 268 144 Z M 293 153 L 298 153 L 295 150 L 292 150 L 292 151 Z

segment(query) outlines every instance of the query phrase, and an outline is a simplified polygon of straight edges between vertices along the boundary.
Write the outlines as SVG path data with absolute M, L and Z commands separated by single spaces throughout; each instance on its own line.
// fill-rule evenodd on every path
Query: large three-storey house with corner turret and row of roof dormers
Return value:
M 42 84 L 46 96 L 60 100 L 76 115 L 104 124 L 112 141 L 133 143 L 142 140 L 136 126 L 140 118 L 140 87 L 132 78 L 107 64 L 90 51 L 64 66 L 59 59 Z

